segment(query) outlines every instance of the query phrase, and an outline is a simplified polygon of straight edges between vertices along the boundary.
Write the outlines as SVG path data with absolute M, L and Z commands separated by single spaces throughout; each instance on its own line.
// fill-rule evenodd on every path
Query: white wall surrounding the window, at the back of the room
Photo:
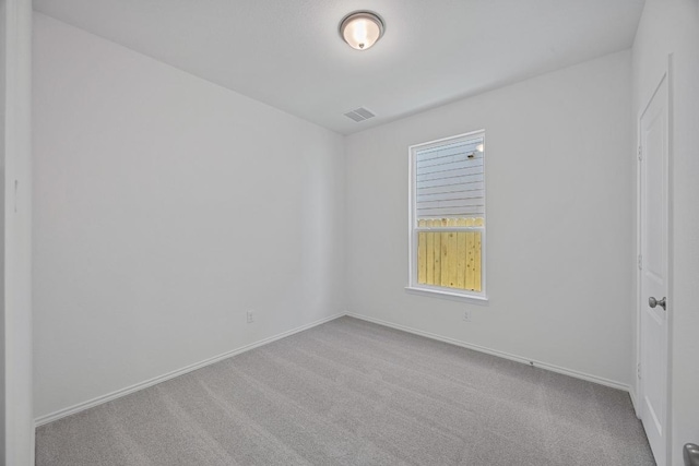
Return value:
M 630 384 L 630 73 L 614 53 L 347 136 L 350 311 Z M 481 128 L 489 302 L 407 294 L 407 147 Z

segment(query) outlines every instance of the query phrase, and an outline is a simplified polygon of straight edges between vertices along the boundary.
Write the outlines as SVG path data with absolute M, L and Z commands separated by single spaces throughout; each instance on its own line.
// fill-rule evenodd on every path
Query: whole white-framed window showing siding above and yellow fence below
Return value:
M 408 289 L 485 299 L 485 132 L 410 147 Z

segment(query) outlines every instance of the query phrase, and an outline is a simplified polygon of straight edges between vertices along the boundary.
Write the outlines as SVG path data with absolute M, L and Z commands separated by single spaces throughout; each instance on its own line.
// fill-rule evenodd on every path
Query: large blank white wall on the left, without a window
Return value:
M 37 417 L 344 312 L 342 136 L 34 26 Z

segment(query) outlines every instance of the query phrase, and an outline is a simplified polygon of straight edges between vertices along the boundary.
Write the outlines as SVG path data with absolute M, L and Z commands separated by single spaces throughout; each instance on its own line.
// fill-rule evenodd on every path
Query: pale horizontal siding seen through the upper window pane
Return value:
M 483 136 L 415 153 L 417 219 L 483 217 Z

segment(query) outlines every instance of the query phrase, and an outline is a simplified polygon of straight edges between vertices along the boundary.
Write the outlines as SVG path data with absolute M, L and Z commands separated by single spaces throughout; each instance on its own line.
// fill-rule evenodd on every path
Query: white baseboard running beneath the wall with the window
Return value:
M 427 338 L 437 339 L 439 342 L 449 343 L 451 345 L 461 346 L 463 348 L 473 349 L 475 351 L 485 353 L 485 354 L 488 354 L 488 355 L 493 355 L 493 356 L 497 356 L 497 357 L 500 357 L 500 358 L 509 359 L 511 361 L 522 362 L 522 363 L 528 365 L 528 366 L 531 366 L 533 363 L 535 367 L 541 368 L 541 369 L 546 369 L 546 370 L 549 370 L 552 372 L 557 372 L 557 373 L 561 373 L 561 374 L 565 374 L 565 375 L 570 375 L 570 377 L 573 377 L 576 379 L 585 380 L 588 382 L 594 382 L 594 383 L 597 383 L 600 385 L 609 386 L 612 389 L 621 390 L 624 392 L 629 392 L 629 393 L 631 392 L 630 391 L 631 387 L 629 385 L 627 385 L 625 383 L 616 382 L 614 380 L 605 379 L 605 378 L 602 378 L 602 377 L 588 374 L 588 373 L 580 372 L 580 371 L 577 371 L 577 370 L 573 370 L 573 369 L 561 368 L 560 366 L 549 365 L 547 362 L 533 360 L 533 359 L 530 359 L 530 358 L 525 358 L 523 356 L 512 355 L 510 353 L 499 351 L 497 349 L 486 348 L 485 346 L 474 345 L 474 344 L 471 344 L 471 343 L 462 342 L 462 340 L 454 339 L 454 338 L 449 338 L 449 337 L 437 335 L 437 334 L 434 334 L 434 333 L 423 332 L 422 330 L 416 330 L 416 328 L 412 328 L 412 327 L 408 327 L 408 326 L 405 326 L 405 325 L 394 324 L 392 322 L 387 322 L 387 321 L 383 321 L 383 320 L 380 320 L 380 319 L 370 318 L 368 315 L 356 314 L 354 312 L 347 312 L 347 315 L 351 316 L 351 318 L 360 319 L 363 321 L 372 322 L 375 324 L 384 325 L 384 326 L 388 326 L 388 327 L 391 327 L 391 328 L 401 330 L 403 332 L 413 333 L 415 335 L 425 336 Z M 631 397 L 631 402 L 633 402 L 632 397 Z

